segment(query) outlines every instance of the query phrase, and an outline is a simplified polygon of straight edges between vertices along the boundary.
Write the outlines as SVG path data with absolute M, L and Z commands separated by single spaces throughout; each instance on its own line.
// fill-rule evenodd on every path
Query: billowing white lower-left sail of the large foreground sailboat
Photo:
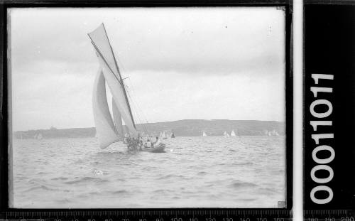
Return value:
M 109 112 L 107 104 L 105 78 L 102 70 L 97 72 L 94 82 L 94 92 L 92 96 L 92 107 L 94 110 L 94 122 L 96 126 L 96 136 L 99 139 L 100 148 L 104 149 L 110 144 L 119 141 L 115 133 L 114 122 Z

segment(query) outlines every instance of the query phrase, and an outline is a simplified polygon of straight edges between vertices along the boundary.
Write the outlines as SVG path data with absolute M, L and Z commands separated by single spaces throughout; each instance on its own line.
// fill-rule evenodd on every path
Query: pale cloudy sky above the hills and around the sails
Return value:
M 99 62 L 87 33 L 101 23 L 136 122 L 285 121 L 283 10 L 33 8 L 9 18 L 13 131 L 94 126 Z

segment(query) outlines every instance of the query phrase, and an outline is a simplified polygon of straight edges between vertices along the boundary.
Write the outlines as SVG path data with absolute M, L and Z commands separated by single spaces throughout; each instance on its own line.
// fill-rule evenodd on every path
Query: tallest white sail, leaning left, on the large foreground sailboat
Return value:
M 111 50 L 109 38 L 107 38 L 104 26 L 101 25 L 92 33 L 89 33 L 89 37 L 91 38 L 94 49 L 97 52 L 97 57 L 99 58 L 104 78 L 107 81 L 107 85 L 109 85 L 109 89 L 111 90 L 114 103 L 116 104 L 122 119 L 124 119 L 126 126 L 129 128 L 131 136 L 137 137 L 138 131 L 136 130 L 133 121 L 124 84 L 121 80 L 119 69 L 114 58 L 114 53 Z

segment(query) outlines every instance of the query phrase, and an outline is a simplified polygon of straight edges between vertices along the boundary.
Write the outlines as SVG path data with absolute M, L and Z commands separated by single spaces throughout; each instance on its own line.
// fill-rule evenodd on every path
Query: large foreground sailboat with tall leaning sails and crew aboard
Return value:
M 153 142 L 150 136 L 143 138 L 136 129 L 129 103 L 129 94 L 124 79 L 121 77 L 104 24 L 102 23 L 88 36 L 94 46 L 100 65 L 94 81 L 92 97 L 94 122 L 100 148 L 105 149 L 114 142 L 123 142 L 129 147 L 129 150 L 164 151 L 165 144 L 161 144 L 159 139 Z M 106 83 L 112 94 L 113 119 L 107 103 Z M 124 134 L 123 122 L 129 130 L 126 134 Z M 148 134 L 147 131 L 146 134 Z

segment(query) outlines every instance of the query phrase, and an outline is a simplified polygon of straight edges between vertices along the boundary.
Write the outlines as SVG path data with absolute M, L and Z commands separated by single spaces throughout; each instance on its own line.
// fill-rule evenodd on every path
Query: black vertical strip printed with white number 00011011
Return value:
M 305 218 L 354 219 L 355 6 L 306 1 L 304 40 Z

